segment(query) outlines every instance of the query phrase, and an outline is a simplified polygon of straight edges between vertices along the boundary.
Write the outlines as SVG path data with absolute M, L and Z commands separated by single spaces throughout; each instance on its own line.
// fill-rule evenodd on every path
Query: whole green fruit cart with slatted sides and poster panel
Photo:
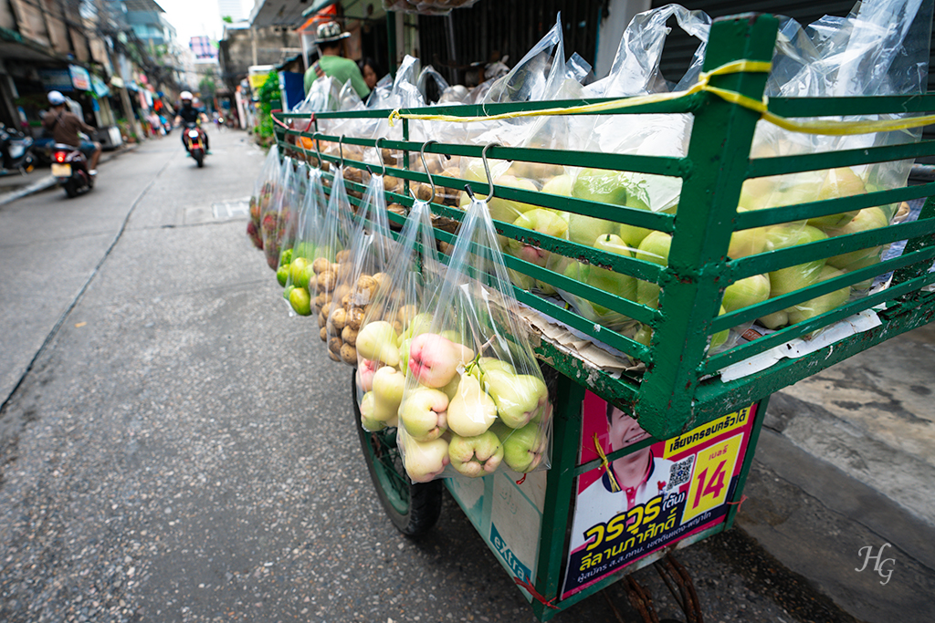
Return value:
M 394 149 L 406 154 L 421 150 L 462 158 L 486 156 L 514 163 L 630 171 L 681 180 L 681 197 L 674 215 L 509 185 L 491 187 L 497 197 L 514 202 L 613 220 L 671 236 L 668 262 L 660 264 L 496 221 L 499 234 L 522 244 L 661 288 L 657 306 L 640 304 L 591 286 L 586 280 L 505 256 L 511 271 L 599 304 L 651 330 L 635 339 L 632 333 L 613 331 L 584 318 L 554 298 L 514 287 L 517 300 L 523 304 L 534 349 L 547 378 L 552 378 L 551 469 L 526 474 L 518 481 L 507 474 L 492 474 L 476 480 L 458 478 L 413 485 L 396 451 L 393 430 L 365 432 L 360 428 L 360 414 L 355 414 L 367 466 L 381 503 L 396 527 L 408 535 L 431 528 L 439 516 L 442 487 L 447 487 L 541 620 L 660 559 L 673 548 L 727 530 L 741 502 L 770 394 L 919 327 L 935 314 L 935 292 L 929 287 L 935 282 L 935 273 L 929 272 L 935 259 L 935 203 L 931 199 L 911 221 L 800 240 L 794 247 L 777 245 L 773 250 L 745 257 L 732 258 L 728 254 L 735 234 L 794 220 L 897 205 L 935 194 L 935 184 L 928 183 L 782 207 L 738 209 L 741 187 L 748 179 L 935 155 L 935 143 L 915 141 L 795 156 L 750 157 L 757 121 L 765 114 L 790 120 L 819 115 L 924 114 L 935 110 L 935 94 L 772 98 L 768 105 L 760 106 L 768 70 L 763 64 L 772 57 L 777 24 L 769 15 L 755 14 L 715 21 L 704 70 L 711 72 L 725 66 L 733 69 L 710 73 L 705 87 L 689 94 L 639 101 L 635 106 L 599 108 L 595 105 L 605 102 L 562 101 L 400 110 L 394 118 L 402 124 L 402 140 L 377 142 L 322 134 L 317 123 L 326 119 L 385 119 L 390 115 L 388 110 L 318 113 L 313 118 L 277 114 L 282 123 L 277 129 L 281 149 L 300 156 L 309 154 L 297 147 L 301 138 L 303 142 L 340 141 L 343 145 Z M 621 123 L 633 114 L 688 113 L 695 122 L 687 155 L 682 158 L 410 140 L 411 120 L 424 119 L 424 115 L 468 118 L 537 111 L 541 114 L 546 110 L 554 113 L 556 109 L 566 115 L 613 114 Z M 290 122 L 293 125 L 286 129 L 285 124 Z M 306 131 L 296 129 L 300 127 Z M 332 163 L 343 160 L 343 154 L 319 153 L 318 157 Z M 409 162 L 408 157 L 403 159 L 403 163 Z M 351 160 L 347 164 L 367 166 Z M 406 191 L 410 184 L 431 183 L 455 191 L 468 186 L 478 193 L 490 192 L 486 182 L 429 177 L 408 164 L 388 167 L 387 174 L 405 180 Z M 366 190 L 352 181 L 345 183 L 349 191 Z M 387 203 L 411 205 L 408 195 L 388 192 Z M 439 218 L 453 222 L 462 215 L 456 207 L 445 205 L 433 205 L 433 211 Z M 394 213 L 390 218 L 401 224 L 405 216 Z M 440 242 L 449 244 L 455 237 L 442 229 L 436 230 L 436 235 Z M 726 287 L 741 279 L 778 274 L 803 262 L 824 263 L 828 258 L 901 241 L 906 241 L 901 254 L 882 262 L 870 262 L 848 272 L 836 271 L 825 280 L 723 313 Z M 889 275 L 886 288 L 838 301 L 818 313 L 802 315 L 778 331 L 741 340 L 732 347 L 720 351 L 709 347 L 712 336 L 726 330 L 749 326 L 755 319 Z M 813 338 L 819 330 L 824 331 Z M 632 366 L 625 361 L 641 364 Z M 613 437 L 618 411 L 631 416 L 639 431 L 621 432 L 624 443 L 606 451 L 597 439 L 608 434 L 608 422 Z M 645 456 L 648 451 L 648 481 L 644 478 L 640 485 L 626 487 L 626 483 L 617 483 L 611 476 L 610 464 L 615 473 L 623 474 L 640 453 Z M 643 490 L 647 487 L 653 490 Z M 626 495 L 627 508 L 603 515 L 601 496 L 606 498 L 608 491 L 618 498 Z

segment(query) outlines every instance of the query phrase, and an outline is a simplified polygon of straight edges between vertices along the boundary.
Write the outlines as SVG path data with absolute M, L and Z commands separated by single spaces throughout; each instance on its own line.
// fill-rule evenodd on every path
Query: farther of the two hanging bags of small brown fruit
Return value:
M 346 282 L 352 270 L 352 264 L 348 262 L 348 259 L 351 256 L 353 211 L 347 193 L 344 191 L 342 174 L 341 167 L 335 167 L 323 225 L 315 244 L 315 258 L 311 262 L 312 272 L 315 275 L 312 310 L 318 314 L 320 337 L 328 347 L 328 357 L 334 361 L 340 361 L 340 344 L 328 342 L 326 325 L 328 317 L 335 308 L 340 306 L 340 300 L 349 291 L 346 284 L 342 289 L 338 289 L 338 284 Z M 309 294 L 311 294 L 311 287 L 311 277 L 309 277 Z

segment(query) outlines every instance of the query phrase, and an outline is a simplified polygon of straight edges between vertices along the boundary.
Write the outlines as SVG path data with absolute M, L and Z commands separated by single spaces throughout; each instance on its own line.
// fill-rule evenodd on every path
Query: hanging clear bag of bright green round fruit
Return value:
M 316 257 L 316 237 L 324 221 L 324 206 L 327 205 L 321 169 L 306 168 L 305 171 L 308 188 L 302 193 L 301 206 L 296 214 L 291 261 L 283 263 L 276 273 L 284 288 L 282 298 L 289 304 L 290 316 L 311 315 L 311 293 L 315 289 L 312 263 Z

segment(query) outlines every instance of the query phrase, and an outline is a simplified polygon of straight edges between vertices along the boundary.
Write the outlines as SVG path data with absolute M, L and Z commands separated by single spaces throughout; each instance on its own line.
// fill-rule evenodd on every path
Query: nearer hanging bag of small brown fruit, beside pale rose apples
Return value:
M 343 281 L 338 282 L 337 292 L 347 290 L 340 297 L 325 323 L 328 348 L 338 347 L 338 355 L 352 367 L 357 366 L 357 335 L 369 314 L 382 318 L 388 313 L 385 304 L 377 304 L 376 294 L 390 259 L 396 253 L 396 241 L 390 234 L 390 223 L 386 217 L 386 200 L 383 196 L 383 177 L 371 175 L 367 193 L 354 217 L 351 236 L 351 253 L 347 262 L 352 266 Z M 334 340 L 339 340 L 340 345 Z

